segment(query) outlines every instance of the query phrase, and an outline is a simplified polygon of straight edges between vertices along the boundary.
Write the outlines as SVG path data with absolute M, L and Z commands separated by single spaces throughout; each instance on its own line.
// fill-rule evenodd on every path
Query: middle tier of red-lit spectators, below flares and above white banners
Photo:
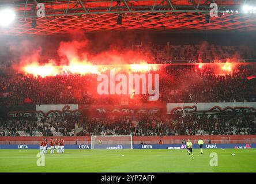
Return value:
M 197 68 L 196 68 L 197 67 Z M 232 72 L 216 74 L 213 68 L 172 68 L 160 74 L 160 101 L 163 102 L 255 102 L 255 70 L 239 65 Z M 96 96 L 96 74 L 57 76 L 1 75 L 1 104 L 116 104 L 120 99 Z M 252 77 L 252 78 L 250 78 Z M 146 95 L 134 99 L 146 102 Z M 104 99 L 104 100 L 103 100 Z M 134 100 L 130 99 L 130 101 Z

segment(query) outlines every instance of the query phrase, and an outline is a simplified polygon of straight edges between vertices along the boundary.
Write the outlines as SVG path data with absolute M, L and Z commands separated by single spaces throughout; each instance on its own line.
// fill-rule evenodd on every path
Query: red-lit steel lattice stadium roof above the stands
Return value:
M 218 17 L 210 17 L 206 24 L 212 2 L 218 5 Z M 38 3 L 44 3 L 45 17 L 37 17 Z M 244 3 L 246 0 L 1 0 L 0 9 L 12 7 L 17 19 L 10 28 L 0 28 L 0 34 L 52 35 L 77 29 L 256 30 L 256 14 L 242 13 Z M 117 24 L 118 15 L 122 24 Z

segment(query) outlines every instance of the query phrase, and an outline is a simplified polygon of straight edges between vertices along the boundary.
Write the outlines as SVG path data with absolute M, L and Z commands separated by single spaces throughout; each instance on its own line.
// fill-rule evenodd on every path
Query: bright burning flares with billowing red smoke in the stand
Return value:
M 148 52 L 135 51 L 133 49 L 126 49 L 125 38 L 123 40 L 115 40 L 107 49 L 97 48 L 103 47 L 106 37 L 95 39 L 98 43 L 92 43 L 84 37 L 82 32 L 71 34 L 71 41 L 61 41 L 57 50 L 57 55 L 48 58 L 46 62 L 42 63 L 45 55 L 42 55 L 42 49 L 32 51 L 31 55 L 24 55 L 21 57 L 21 62 L 18 65 L 19 71 L 25 74 L 33 74 L 35 76 L 55 76 L 59 74 L 100 74 L 106 70 L 115 68 L 116 70 L 125 70 L 130 72 L 147 72 L 156 71 L 160 68 L 157 64 L 148 64 L 152 60 L 150 49 Z M 204 41 L 199 47 L 198 60 L 202 59 L 208 43 Z M 27 53 L 27 52 L 26 52 Z M 234 60 L 230 62 L 234 63 Z M 199 64 L 198 68 L 203 68 L 203 64 Z M 216 74 L 227 74 L 232 71 L 231 64 L 220 66 L 216 69 Z

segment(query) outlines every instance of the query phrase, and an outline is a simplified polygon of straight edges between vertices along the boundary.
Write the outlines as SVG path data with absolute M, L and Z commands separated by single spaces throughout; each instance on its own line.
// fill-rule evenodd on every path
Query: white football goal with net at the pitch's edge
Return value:
M 121 150 L 133 149 L 132 136 L 92 136 L 91 148 L 93 149 L 108 149 Z

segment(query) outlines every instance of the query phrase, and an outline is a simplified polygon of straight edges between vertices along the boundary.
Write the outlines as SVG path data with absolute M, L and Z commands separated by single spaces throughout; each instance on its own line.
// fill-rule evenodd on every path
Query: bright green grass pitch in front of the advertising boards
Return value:
M 0 172 L 256 172 L 256 149 L 186 150 L 65 150 L 45 156 L 37 166 L 39 150 L 0 150 Z M 218 166 L 210 166 L 210 153 L 218 155 Z M 235 153 L 235 156 L 232 156 Z

